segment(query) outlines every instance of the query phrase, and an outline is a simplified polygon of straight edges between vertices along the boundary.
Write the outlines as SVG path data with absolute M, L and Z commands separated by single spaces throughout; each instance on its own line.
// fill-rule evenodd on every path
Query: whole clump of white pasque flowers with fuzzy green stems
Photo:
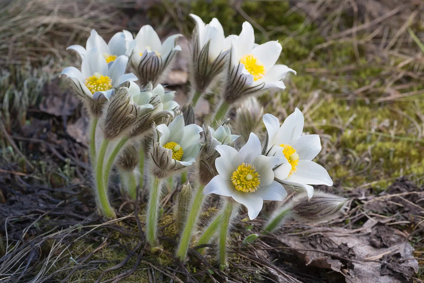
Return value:
M 85 47 L 68 47 L 79 54 L 81 68 L 66 67 L 61 74 L 89 112 L 93 191 L 100 214 L 116 217 L 117 204 L 108 190 L 116 167 L 121 194 L 127 199 L 137 204 L 142 201 L 137 199 L 139 192 L 146 190 L 143 230 L 147 247 L 159 252 L 163 248 L 158 236 L 160 206 L 168 182 L 176 199 L 176 258 L 186 261 L 190 245 L 210 244 L 218 234 L 218 262 L 225 269 L 229 231 L 244 209 L 255 219 L 264 202 L 297 194 L 274 212 L 261 234 L 246 237 L 243 244 L 247 245 L 275 231 L 289 217 L 302 222 L 332 219 L 343 211 L 346 199 L 314 194 L 312 185 L 333 182 L 326 169 L 312 161 L 321 151 L 321 141 L 318 135 L 303 135 L 302 112 L 296 108 L 280 125 L 272 114 L 263 115 L 264 108 L 255 98 L 285 89 L 282 80 L 290 72 L 296 74 L 276 64 L 281 44 L 256 44 L 248 22 L 239 35 L 225 37 L 218 19 L 205 24 L 190 16 L 195 21 L 189 62 L 191 99 L 181 109 L 175 92 L 161 84 L 181 51 L 181 35 L 162 42 L 150 25 L 135 38 L 122 31 L 108 43 L 92 30 Z M 128 67 L 135 75 L 126 72 Z M 212 89 L 220 94 L 218 105 L 211 105 L 217 110 L 197 125 L 196 104 Z M 228 116 L 232 107 L 237 107 L 235 122 Z M 219 198 L 221 208 L 201 228 L 198 219 L 207 195 Z M 204 254 L 206 248 L 198 252 Z

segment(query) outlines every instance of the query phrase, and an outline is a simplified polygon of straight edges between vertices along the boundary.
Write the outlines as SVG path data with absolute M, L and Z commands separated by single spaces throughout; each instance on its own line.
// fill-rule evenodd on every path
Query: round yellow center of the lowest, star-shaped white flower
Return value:
M 259 189 L 259 184 L 261 183 L 259 176 L 260 175 L 256 172 L 255 166 L 243 162 L 233 172 L 231 181 L 237 191 L 253 193 Z

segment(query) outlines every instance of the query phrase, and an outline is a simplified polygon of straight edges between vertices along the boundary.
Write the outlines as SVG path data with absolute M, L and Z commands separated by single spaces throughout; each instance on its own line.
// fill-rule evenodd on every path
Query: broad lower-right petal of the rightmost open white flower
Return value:
M 310 160 L 299 160 L 296 172 L 287 178 L 287 181 L 310 185 L 333 185 L 327 170 Z

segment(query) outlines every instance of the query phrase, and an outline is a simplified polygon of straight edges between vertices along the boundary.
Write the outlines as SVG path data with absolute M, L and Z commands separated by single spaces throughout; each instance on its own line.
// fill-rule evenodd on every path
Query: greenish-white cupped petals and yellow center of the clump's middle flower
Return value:
M 183 166 L 190 166 L 196 161 L 201 143 L 200 132 L 202 128 L 196 124 L 184 126 L 184 118 L 178 115 L 170 122 L 158 125 L 159 145 L 172 153 L 172 159 Z

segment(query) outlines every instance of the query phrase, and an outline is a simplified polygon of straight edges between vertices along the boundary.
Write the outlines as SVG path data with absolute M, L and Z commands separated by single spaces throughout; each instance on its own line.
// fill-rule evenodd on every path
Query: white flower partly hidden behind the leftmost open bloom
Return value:
M 128 55 L 128 45 L 132 39 L 132 35 L 129 31 L 121 31 L 115 33 L 109 40 L 109 43 L 106 43 L 97 31 L 93 29 L 87 39 L 85 48 L 81 45 L 75 44 L 67 47 L 66 50 L 75 50 L 81 58 L 84 59 L 89 50 L 97 48 L 98 52 L 106 59 L 106 62 L 110 63 L 115 61 L 120 55 Z

